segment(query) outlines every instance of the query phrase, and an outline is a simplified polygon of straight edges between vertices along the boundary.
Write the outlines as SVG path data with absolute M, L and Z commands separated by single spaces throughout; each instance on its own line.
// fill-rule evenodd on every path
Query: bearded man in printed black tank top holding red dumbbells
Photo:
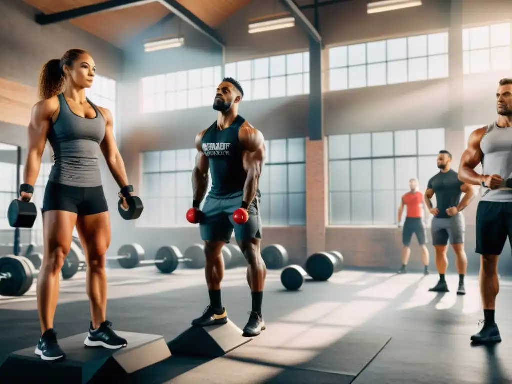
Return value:
M 242 87 L 232 78 L 225 78 L 217 89 L 214 110 L 219 112 L 218 119 L 196 137 L 199 155 L 193 173 L 193 208 L 187 212 L 187 220 L 200 223 L 210 296 L 210 305 L 192 325 L 227 324 L 227 311 L 221 300 L 222 247 L 231 241 L 234 229 L 237 243 L 249 264 L 247 282 L 252 292 L 252 310 L 244 336 L 251 337 L 265 329 L 262 302 L 267 268 L 261 257 L 261 193 L 258 188 L 265 139 L 238 114 L 243 96 Z M 212 186 L 201 211 L 199 208 L 208 189 L 208 170 Z

